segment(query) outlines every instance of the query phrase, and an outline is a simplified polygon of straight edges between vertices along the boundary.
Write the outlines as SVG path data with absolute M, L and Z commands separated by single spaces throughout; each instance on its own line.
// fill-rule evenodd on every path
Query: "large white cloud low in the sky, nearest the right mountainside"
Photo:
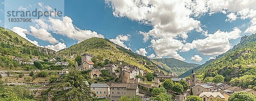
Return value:
M 240 33 L 241 30 L 237 27 L 231 32 L 218 30 L 214 34 L 208 34 L 207 38 L 197 39 L 192 41 L 192 43 L 186 43 L 181 52 L 196 48 L 203 55 L 220 55 L 227 52 L 232 47 L 230 40 L 239 38 Z

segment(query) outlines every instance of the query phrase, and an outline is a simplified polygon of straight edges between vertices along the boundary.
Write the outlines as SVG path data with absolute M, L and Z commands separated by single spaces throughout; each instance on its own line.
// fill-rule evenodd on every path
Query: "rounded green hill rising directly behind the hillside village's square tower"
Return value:
M 139 62 L 146 61 L 147 64 L 152 64 L 147 57 L 135 54 L 130 50 L 113 44 L 113 42 L 105 38 L 90 38 L 79 44 L 70 46 L 67 49 L 60 50 L 58 53 L 67 59 L 74 60 L 76 55 L 81 55 L 81 53 L 84 52 L 93 54 L 93 56 L 99 60 L 109 59 L 113 62 L 122 61 L 147 71 L 149 71 L 149 69 Z

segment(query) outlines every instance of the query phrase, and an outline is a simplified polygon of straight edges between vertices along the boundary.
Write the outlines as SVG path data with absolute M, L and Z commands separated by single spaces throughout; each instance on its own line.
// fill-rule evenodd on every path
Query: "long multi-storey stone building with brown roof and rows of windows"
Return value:
M 118 101 L 118 98 L 121 98 L 122 96 L 138 96 L 142 100 L 144 99 L 144 94 L 139 93 L 137 84 L 111 84 L 110 100 Z

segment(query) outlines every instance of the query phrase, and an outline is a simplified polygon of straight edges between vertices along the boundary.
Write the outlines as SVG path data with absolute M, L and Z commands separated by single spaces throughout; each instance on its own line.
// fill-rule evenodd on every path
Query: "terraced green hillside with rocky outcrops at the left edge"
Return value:
M 20 57 L 26 61 L 29 61 L 32 57 L 43 60 L 55 54 L 55 51 L 35 46 L 17 33 L 3 27 L 0 27 L 0 37 L 0 70 L 35 68 L 19 65 L 13 60 L 14 57 Z

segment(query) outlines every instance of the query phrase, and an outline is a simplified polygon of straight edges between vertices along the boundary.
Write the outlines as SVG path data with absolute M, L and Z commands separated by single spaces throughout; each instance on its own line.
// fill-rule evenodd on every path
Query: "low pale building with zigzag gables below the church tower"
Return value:
M 220 92 L 202 92 L 199 97 L 203 98 L 203 101 L 210 101 L 212 98 L 222 98 L 225 97 Z

